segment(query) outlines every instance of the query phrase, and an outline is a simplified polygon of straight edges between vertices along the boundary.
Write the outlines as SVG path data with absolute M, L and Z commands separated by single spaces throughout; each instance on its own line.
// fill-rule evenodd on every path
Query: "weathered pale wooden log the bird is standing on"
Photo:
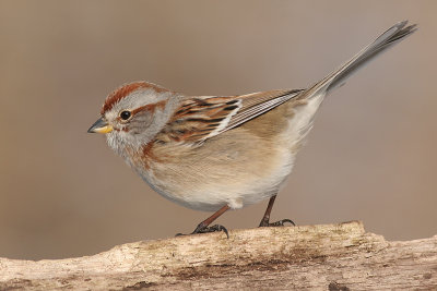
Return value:
M 0 290 L 437 290 L 437 235 L 388 242 L 361 222 L 143 241 L 93 256 L 0 258 Z

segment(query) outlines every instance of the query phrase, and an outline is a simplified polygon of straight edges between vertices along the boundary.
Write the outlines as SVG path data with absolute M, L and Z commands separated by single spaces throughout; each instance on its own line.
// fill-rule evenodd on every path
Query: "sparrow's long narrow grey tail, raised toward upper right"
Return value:
M 344 82 L 358 69 L 362 69 L 370 60 L 374 60 L 376 56 L 391 48 L 395 44 L 403 40 L 406 36 L 411 35 L 416 28 L 416 24 L 406 26 L 408 21 L 400 22 L 387 32 L 381 34 L 374 43 L 365 47 L 350 61 L 344 63 L 339 70 L 326 76 L 323 80 L 308 88 L 302 97 L 311 98 L 314 96 L 326 95 L 332 89 L 341 86 Z

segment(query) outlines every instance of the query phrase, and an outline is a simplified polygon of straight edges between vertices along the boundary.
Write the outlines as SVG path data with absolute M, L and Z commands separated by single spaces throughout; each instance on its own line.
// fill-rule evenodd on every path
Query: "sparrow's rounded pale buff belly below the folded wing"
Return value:
M 194 150 L 185 151 L 175 162 L 151 162 L 139 173 L 162 196 L 188 208 L 215 211 L 224 205 L 241 208 L 276 194 L 294 162 L 293 151 L 280 147 L 277 141 L 240 131 L 212 138 Z

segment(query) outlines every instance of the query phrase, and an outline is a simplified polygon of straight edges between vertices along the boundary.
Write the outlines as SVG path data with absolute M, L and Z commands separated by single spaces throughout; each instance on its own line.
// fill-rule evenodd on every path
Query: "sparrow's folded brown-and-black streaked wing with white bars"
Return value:
M 293 99 L 302 90 L 270 90 L 185 100 L 161 134 L 176 142 L 203 142 Z

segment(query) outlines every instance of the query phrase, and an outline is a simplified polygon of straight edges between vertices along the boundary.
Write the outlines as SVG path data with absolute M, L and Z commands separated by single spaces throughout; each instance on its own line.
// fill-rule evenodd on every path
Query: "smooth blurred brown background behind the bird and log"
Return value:
M 153 193 L 86 133 L 120 84 L 300 88 L 405 19 L 420 31 L 324 102 L 273 219 L 436 234 L 436 13 L 433 0 L 0 1 L 0 256 L 90 255 L 210 215 Z M 218 222 L 252 228 L 265 205 Z

